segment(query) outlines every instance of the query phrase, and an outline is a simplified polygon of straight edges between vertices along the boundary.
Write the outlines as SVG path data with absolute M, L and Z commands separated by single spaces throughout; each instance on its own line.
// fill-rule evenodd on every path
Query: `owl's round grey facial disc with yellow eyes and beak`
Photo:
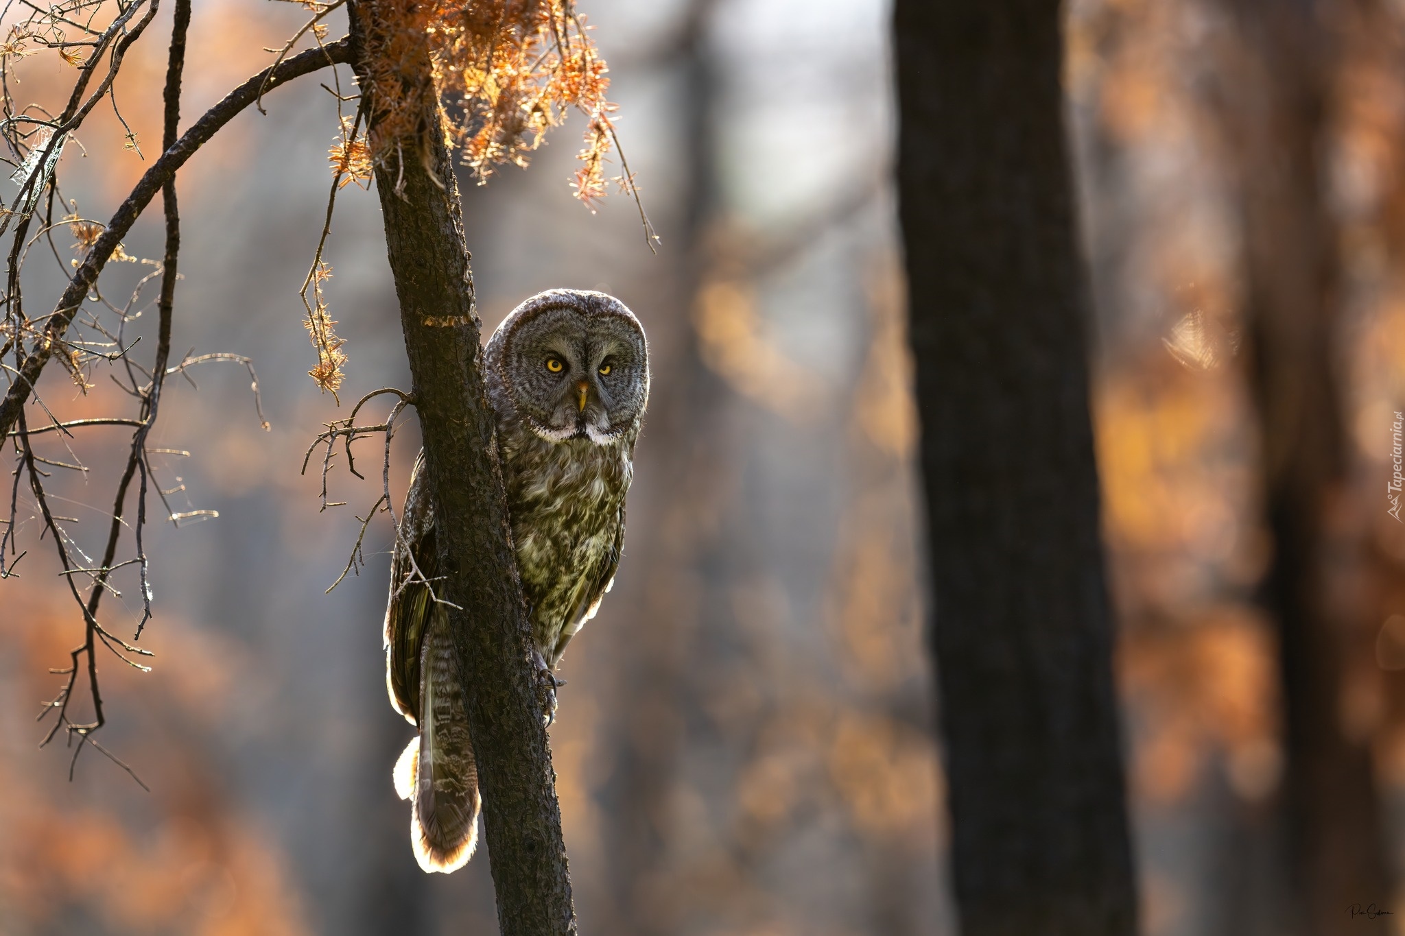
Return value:
M 507 354 L 517 411 L 542 439 L 614 443 L 642 408 L 642 348 L 631 320 L 544 309 L 523 323 Z M 642 382 L 648 393 L 648 376 Z

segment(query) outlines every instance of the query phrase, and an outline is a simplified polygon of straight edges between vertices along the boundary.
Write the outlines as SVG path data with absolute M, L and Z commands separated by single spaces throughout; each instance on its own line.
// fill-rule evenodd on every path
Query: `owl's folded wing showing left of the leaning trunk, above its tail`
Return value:
M 430 624 L 430 589 L 423 581 L 406 582 L 417 566 L 424 578 L 438 575 L 438 546 L 434 539 L 434 507 L 424 473 L 424 452 L 414 459 L 410 491 L 405 495 L 402 535 L 391 559 L 391 599 L 385 609 L 385 688 L 391 704 L 410 724 L 419 723 L 420 650 Z M 414 563 L 410 563 L 410 556 Z

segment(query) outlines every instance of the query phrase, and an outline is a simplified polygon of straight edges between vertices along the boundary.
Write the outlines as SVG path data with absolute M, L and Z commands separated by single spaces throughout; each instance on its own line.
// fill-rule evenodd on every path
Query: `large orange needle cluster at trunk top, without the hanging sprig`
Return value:
M 570 0 L 381 0 L 368 4 L 371 156 L 420 139 L 438 108 L 445 143 L 479 182 L 495 166 L 525 166 L 552 126 L 576 108 L 590 119 L 573 188 L 584 203 L 606 192 L 614 143 L 607 66 Z M 429 83 L 416 76 L 429 76 Z M 627 182 L 621 182 L 627 185 Z

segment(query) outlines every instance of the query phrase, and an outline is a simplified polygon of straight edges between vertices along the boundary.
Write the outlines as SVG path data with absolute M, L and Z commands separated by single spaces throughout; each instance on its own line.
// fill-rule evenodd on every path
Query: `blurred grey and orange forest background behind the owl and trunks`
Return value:
M 1242 205 L 1263 170 L 1245 159 L 1253 101 L 1241 91 L 1262 59 L 1235 6 L 1066 4 L 1148 936 L 1277 932 L 1284 887 L 1276 637 L 1256 603 L 1270 549 L 1239 354 L 1253 268 Z M 1370 752 L 1399 866 L 1405 525 L 1387 514 L 1385 483 L 1405 407 L 1405 6 L 1333 8 L 1312 143 L 1349 483 L 1331 501 L 1325 591 L 1343 637 L 1335 716 L 1346 742 Z M 583 928 L 953 933 L 889 178 L 888 6 L 590 0 L 583 11 L 611 66 L 659 254 L 628 199 L 592 215 L 570 198 L 579 118 L 528 171 L 462 180 L 486 328 L 538 289 L 603 289 L 638 313 L 653 355 L 625 560 L 566 657 L 551 730 Z M 201 0 L 185 122 L 299 24 L 284 4 Z M 80 138 L 93 157 L 65 154 L 65 195 L 86 216 L 105 218 L 153 159 L 164 55 L 155 36 L 139 42 L 118 81 L 148 161 L 101 156 L 121 150 L 122 129 L 97 114 Z M 66 87 L 56 55 L 35 62 L 22 95 Z M 180 477 L 188 507 L 177 509 L 219 516 L 150 528 L 156 617 L 143 646 L 156 668 L 103 668 L 103 741 L 152 793 L 91 752 L 69 783 L 69 758 L 35 749 L 32 717 L 58 683 L 48 669 L 66 664 L 79 620 L 46 544 L 30 543 L 22 577 L 0 589 L 7 936 L 496 932 L 486 856 L 422 874 L 391 786 L 412 728 L 384 692 L 385 522 L 368 533 L 370 567 L 323 595 L 379 483 L 334 474 L 333 500 L 348 505 L 319 515 L 318 479 L 299 476 L 320 425 L 347 408 L 306 376 L 316 356 L 296 296 L 337 133 L 318 80 L 270 94 L 267 116 L 239 116 L 180 178 L 174 347 L 250 355 L 271 431 L 237 366 L 194 373 L 198 392 L 167 387 L 155 445 L 191 456 L 171 456 L 163 483 Z M 126 240 L 133 257 L 160 255 L 159 215 L 148 213 Z M 350 356 L 343 399 L 409 386 L 377 213 L 374 195 L 343 191 L 329 241 L 327 297 Z M 104 290 L 122 295 L 142 272 L 115 264 Z M 31 295 L 44 282 L 35 274 Z M 65 418 L 119 410 L 101 368 L 87 397 L 62 375 L 46 380 Z M 53 481 L 79 542 L 100 535 L 107 474 L 128 446 L 101 432 L 74 443 L 91 480 Z M 402 432 L 396 497 L 416 448 Z M 119 587 L 125 609 L 107 613 L 135 623 L 135 580 Z M 1392 892 L 1359 900 L 1405 918 Z

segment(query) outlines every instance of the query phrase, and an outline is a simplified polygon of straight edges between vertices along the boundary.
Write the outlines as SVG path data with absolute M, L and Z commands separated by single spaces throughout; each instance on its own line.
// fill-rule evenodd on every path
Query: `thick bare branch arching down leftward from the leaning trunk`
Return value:
M 270 88 L 316 72 L 327 65 L 344 65 L 350 60 L 351 42 L 348 38 L 343 38 L 318 49 L 308 49 L 291 59 L 285 59 L 277 66 L 264 69 L 225 95 L 219 104 L 209 108 L 194 126 L 185 131 L 185 135 L 174 146 L 167 147 L 162 153 L 162 157 L 146 170 L 146 174 L 142 175 L 131 195 L 126 196 L 126 201 L 112 215 L 112 219 L 107 223 L 107 229 L 74 271 L 72 282 L 63 290 L 63 296 L 49 317 L 49 323 L 44 330 L 44 338 L 38 342 L 34 352 L 24 359 L 18 373 L 15 373 L 10 390 L 6 393 L 4 400 L 0 401 L 0 436 L 7 435 L 14 428 L 20 410 L 34 392 L 44 365 L 53 356 L 53 351 L 60 347 L 59 338 L 67 331 L 69 324 L 83 305 L 83 299 L 97 282 L 98 274 L 103 272 L 103 267 L 112 255 L 112 251 L 117 250 L 122 237 L 136 223 L 136 219 L 150 203 L 152 198 L 156 196 L 156 192 L 162 191 L 176 177 L 176 173 L 185 164 L 185 160 L 194 156 L 225 123 L 253 104 L 260 90 L 267 93 Z

